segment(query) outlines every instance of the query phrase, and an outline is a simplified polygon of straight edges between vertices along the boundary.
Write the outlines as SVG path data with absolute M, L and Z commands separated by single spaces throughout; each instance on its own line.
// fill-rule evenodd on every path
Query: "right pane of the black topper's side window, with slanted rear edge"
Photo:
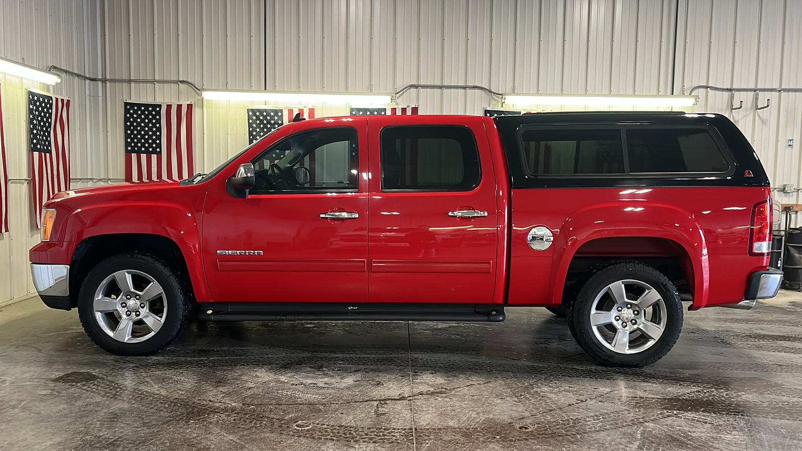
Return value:
M 632 173 L 723 173 L 730 169 L 703 128 L 630 128 L 626 148 Z

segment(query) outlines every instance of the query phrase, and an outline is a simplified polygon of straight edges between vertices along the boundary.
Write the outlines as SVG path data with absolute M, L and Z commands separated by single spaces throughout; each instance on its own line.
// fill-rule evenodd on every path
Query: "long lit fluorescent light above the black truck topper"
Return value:
M 601 105 L 616 107 L 690 107 L 693 95 L 506 95 L 504 104 L 513 105 Z

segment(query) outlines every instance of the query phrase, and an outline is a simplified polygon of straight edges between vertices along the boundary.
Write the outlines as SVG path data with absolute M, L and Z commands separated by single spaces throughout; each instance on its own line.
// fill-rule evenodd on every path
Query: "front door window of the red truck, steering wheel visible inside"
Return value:
M 279 141 L 253 161 L 251 193 L 357 189 L 354 128 L 317 128 Z

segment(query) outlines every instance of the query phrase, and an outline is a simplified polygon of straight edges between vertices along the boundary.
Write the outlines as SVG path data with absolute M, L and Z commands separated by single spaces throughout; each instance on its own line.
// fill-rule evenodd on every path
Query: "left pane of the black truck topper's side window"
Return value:
M 532 174 L 624 173 L 618 129 L 526 130 L 521 139 Z

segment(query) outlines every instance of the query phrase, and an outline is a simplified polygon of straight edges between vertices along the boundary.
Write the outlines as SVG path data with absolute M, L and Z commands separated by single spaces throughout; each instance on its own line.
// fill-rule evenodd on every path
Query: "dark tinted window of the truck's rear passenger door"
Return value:
M 468 128 L 389 127 L 382 131 L 382 189 L 469 191 L 479 185 L 479 152 Z

